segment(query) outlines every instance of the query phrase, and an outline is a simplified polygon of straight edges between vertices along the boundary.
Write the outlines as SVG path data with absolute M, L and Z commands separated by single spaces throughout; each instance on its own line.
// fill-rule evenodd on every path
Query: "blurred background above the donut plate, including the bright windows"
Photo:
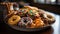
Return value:
M 25 2 L 31 6 L 49 10 L 50 12 L 60 14 L 60 0 L 0 0 L 0 2 Z

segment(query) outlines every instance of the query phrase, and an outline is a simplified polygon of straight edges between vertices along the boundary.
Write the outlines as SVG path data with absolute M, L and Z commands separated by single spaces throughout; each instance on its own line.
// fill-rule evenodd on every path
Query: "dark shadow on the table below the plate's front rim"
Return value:
M 46 29 L 40 30 L 40 31 L 32 31 L 32 32 L 26 32 L 26 31 L 18 31 L 18 30 L 8 30 L 7 32 L 4 33 L 10 33 L 10 34 L 53 34 L 54 33 L 54 29 L 53 27 L 49 26 Z

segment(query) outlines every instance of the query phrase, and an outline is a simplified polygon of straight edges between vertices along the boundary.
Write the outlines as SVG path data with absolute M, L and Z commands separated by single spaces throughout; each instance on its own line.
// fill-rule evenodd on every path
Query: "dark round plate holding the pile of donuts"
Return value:
M 48 14 L 51 14 L 51 13 L 49 13 L 49 12 L 47 12 L 47 11 L 45 11 L 45 10 L 42 10 L 42 9 L 40 9 L 41 11 L 43 11 L 43 12 L 45 12 L 45 13 L 48 13 Z M 18 26 L 11 26 L 11 25 L 9 25 L 7 22 L 6 22 L 6 16 L 7 15 L 7 9 L 6 9 L 6 7 L 5 7 L 5 10 L 4 10 L 4 12 L 3 12 L 3 17 L 4 17 L 4 22 L 9 26 L 9 27 L 11 27 L 11 28 L 13 28 L 13 29 L 15 29 L 15 30 L 19 30 L 19 31 L 39 31 L 39 30 L 43 30 L 43 29 L 46 29 L 46 28 L 48 28 L 49 26 L 51 26 L 53 23 L 51 23 L 51 24 L 49 24 L 49 25 L 46 25 L 46 26 L 43 26 L 43 27 L 40 27 L 40 28 L 20 28 L 20 27 L 18 27 Z M 51 15 L 53 15 L 53 14 L 51 14 Z

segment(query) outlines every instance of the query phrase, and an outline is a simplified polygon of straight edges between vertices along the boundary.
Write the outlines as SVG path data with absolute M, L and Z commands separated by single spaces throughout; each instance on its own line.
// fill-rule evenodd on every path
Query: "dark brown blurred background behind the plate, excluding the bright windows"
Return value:
M 0 0 L 0 2 L 5 2 L 5 1 L 9 1 L 9 2 L 24 1 L 26 3 L 30 3 L 31 6 L 36 6 L 38 8 L 41 8 L 41 9 L 44 9 L 44 10 L 48 10 L 48 11 L 51 11 L 51 12 L 56 13 L 56 14 L 60 14 L 60 5 L 58 5 L 58 4 L 34 3 L 33 0 Z M 56 3 L 57 3 L 57 1 L 56 1 Z

